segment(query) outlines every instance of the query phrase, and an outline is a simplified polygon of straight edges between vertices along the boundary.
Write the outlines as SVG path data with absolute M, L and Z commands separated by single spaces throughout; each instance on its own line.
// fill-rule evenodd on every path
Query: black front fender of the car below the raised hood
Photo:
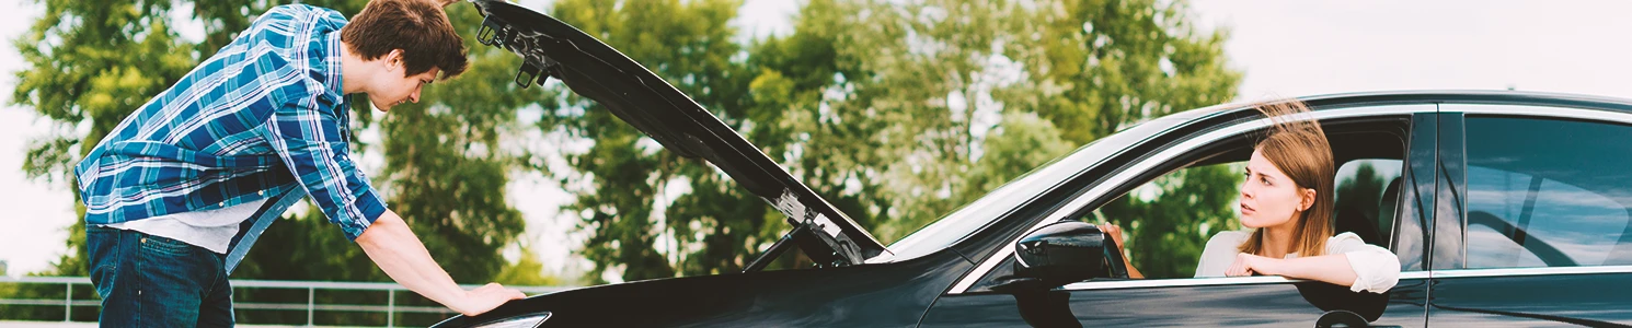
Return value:
M 914 261 L 759 271 L 594 286 L 509 302 L 436 326 L 470 326 L 540 310 L 543 326 L 912 326 L 969 269 L 955 251 Z

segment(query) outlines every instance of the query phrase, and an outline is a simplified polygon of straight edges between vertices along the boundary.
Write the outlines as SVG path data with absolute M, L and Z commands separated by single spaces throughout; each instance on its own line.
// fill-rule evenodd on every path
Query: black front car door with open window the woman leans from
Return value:
M 1405 266 L 1400 282 L 1386 295 L 1355 294 L 1346 286 L 1273 276 L 1188 277 L 1183 268 L 1167 268 L 1165 271 L 1177 274 L 1169 276 L 1169 279 L 1093 279 L 1046 292 L 1004 294 L 986 289 L 996 279 L 1012 274 L 1012 253 L 999 253 L 996 256 L 1005 256 L 1002 264 L 984 273 L 979 269 L 971 273 L 973 277 L 979 279 L 966 289 L 953 286 L 930 307 L 920 326 L 1286 326 L 1342 318 L 1340 310 L 1374 318 L 1373 325 L 1423 326 L 1428 297 L 1423 256 L 1426 255 L 1426 242 L 1431 240 L 1426 235 L 1430 230 L 1423 227 L 1430 222 L 1435 204 L 1435 170 L 1431 166 L 1436 139 L 1435 109 L 1435 104 L 1392 104 L 1324 109 L 1314 114 L 1322 119 L 1322 124 L 1327 124 L 1338 158 L 1371 158 L 1376 153 L 1351 147 L 1368 148 L 1364 144 L 1371 140 L 1366 135 L 1395 135 L 1392 145 L 1387 145 L 1387 140 L 1369 145 L 1382 148 L 1379 153 L 1394 153 L 1384 155 L 1384 158 L 1394 157 L 1395 168 L 1392 171 L 1399 176 L 1399 180 L 1386 180 L 1389 181 L 1386 188 L 1376 188 L 1384 191 L 1381 191 L 1381 204 L 1374 204 L 1389 207 L 1389 211 L 1374 211 L 1373 222 L 1368 222 L 1374 233 L 1386 237 L 1368 242 L 1390 246 Z M 1240 119 L 1180 139 L 1173 145 L 1155 150 L 1144 160 L 1111 173 L 1103 183 L 1090 186 L 1077 199 L 1044 217 L 1043 224 L 1072 219 L 1092 222 L 1097 219 L 1095 215 L 1105 215 L 1102 207 L 1111 204 L 1113 199 L 1151 193 L 1139 189 L 1160 184 L 1173 175 L 1186 175 L 1182 173 L 1185 170 L 1206 170 L 1206 165 L 1227 166 L 1235 160 L 1244 162 L 1245 155 L 1250 155 L 1255 132 L 1266 122 L 1265 119 Z M 1355 135 L 1337 137 L 1340 134 Z M 1237 186 L 1224 188 L 1235 189 Z M 1345 196 L 1338 194 L 1338 197 Z M 1342 214 L 1338 220 L 1343 220 Z M 1159 224 L 1144 224 L 1142 228 L 1155 225 Z M 1204 243 L 1206 237 L 1200 238 Z M 1136 243 L 1139 242 L 1129 242 L 1129 245 Z M 1129 250 L 1139 250 L 1139 246 L 1129 246 Z M 1133 256 L 1160 255 L 1134 253 Z M 1193 273 L 1193 263 L 1188 268 Z

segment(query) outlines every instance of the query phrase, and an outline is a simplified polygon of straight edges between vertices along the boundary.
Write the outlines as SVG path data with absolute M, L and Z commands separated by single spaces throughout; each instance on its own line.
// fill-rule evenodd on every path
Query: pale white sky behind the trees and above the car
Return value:
M 548 0 L 524 2 L 540 7 Z M 746 0 L 733 24 L 747 36 L 792 33 L 796 0 Z M 0 38 L 26 31 L 44 8 L 0 0 Z M 1201 31 L 1229 29 L 1226 57 L 1245 73 L 1240 100 L 1377 90 L 1528 90 L 1632 100 L 1632 2 L 1193 2 Z M 10 42 L 5 42 L 10 44 Z M 26 140 L 49 119 L 8 106 L 21 57 L 0 47 L 0 261 L 11 276 L 39 271 L 65 251 L 72 194 L 26 180 Z M 366 160 L 367 162 L 367 160 Z M 367 168 L 369 165 L 364 163 Z M 375 166 L 377 170 L 377 166 Z M 573 217 L 555 211 L 568 197 L 537 175 L 517 175 L 511 204 L 529 220 L 545 268 L 583 268 Z

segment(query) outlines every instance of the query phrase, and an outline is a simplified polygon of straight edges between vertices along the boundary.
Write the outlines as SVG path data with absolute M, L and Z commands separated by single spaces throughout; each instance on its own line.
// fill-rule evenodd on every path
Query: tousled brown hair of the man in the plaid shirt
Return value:
M 403 77 L 442 70 L 442 80 L 465 72 L 465 39 L 454 31 L 442 7 L 429 0 L 370 0 L 339 29 L 362 60 L 401 49 Z

